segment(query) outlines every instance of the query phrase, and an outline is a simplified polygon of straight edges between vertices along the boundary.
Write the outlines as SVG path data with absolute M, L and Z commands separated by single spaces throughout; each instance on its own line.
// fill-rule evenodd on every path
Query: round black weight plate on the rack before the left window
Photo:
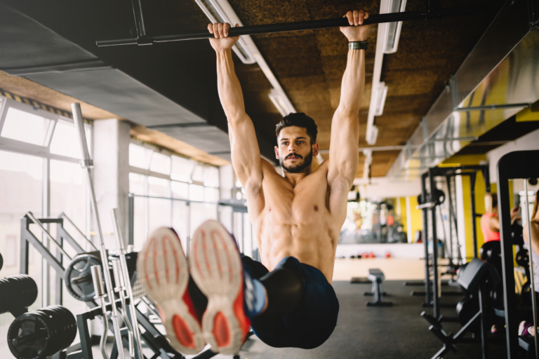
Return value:
M 65 287 L 75 299 L 91 302 L 95 297 L 92 266 L 101 266 L 101 260 L 94 255 L 79 255 L 65 269 Z

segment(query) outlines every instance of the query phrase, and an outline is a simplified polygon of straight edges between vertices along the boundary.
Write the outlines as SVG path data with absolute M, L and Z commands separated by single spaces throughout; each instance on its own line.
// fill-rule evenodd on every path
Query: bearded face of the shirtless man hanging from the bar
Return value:
M 301 172 L 312 163 L 312 156 L 318 155 L 318 144 L 311 144 L 307 129 L 290 126 L 283 128 L 277 138 L 275 157 L 286 172 Z

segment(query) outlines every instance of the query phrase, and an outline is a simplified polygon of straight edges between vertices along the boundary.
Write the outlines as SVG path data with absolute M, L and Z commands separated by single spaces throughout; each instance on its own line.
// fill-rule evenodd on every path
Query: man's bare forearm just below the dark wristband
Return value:
M 339 111 L 356 116 L 361 107 L 365 86 L 365 50 L 348 50 L 345 74 L 342 76 Z

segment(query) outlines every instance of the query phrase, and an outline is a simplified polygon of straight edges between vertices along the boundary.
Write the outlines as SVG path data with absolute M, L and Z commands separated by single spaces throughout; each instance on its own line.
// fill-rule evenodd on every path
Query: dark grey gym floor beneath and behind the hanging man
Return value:
M 367 307 L 364 292 L 371 290 L 370 284 L 350 284 L 335 281 L 335 292 L 340 302 L 338 325 L 325 344 L 306 351 L 297 348 L 271 348 L 255 336 L 251 337 L 241 351 L 242 359 L 316 359 L 316 358 L 431 358 L 441 348 L 441 341 L 429 332 L 428 323 L 420 317 L 424 297 L 411 297 L 412 290 L 422 287 L 405 287 L 403 280 L 386 280 L 384 290 L 389 294 L 385 300 L 392 307 Z M 444 286 L 444 290 L 458 287 Z M 460 297 L 442 297 L 444 303 L 457 303 Z M 372 300 L 372 299 L 371 299 Z M 432 309 L 427 309 L 432 313 Z M 427 313 L 428 313 L 427 311 Z M 454 309 L 443 309 L 444 316 L 455 316 Z M 457 332 L 458 323 L 444 323 L 446 332 Z M 507 358 L 505 335 L 488 344 L 489 358 Z M 479 344 L 458 344 L 457 353 L 448 353 L 444 358 L 481 358 Z M 189 357 L 188 357 L 189 358 Z M 215 358 L 230 358 L 218 355 Z

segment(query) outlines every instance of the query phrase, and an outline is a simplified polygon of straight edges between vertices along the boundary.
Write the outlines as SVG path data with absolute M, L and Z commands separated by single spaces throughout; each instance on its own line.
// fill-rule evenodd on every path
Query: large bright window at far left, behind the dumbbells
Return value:
M 85 129 L 91 144 L 91 126 Z M 81 231 L 89 231 L 89 201 L 79 152 L 71 119 L 0 96 L 0 253 L 4 257 L 0 278 L 20 273 L 20 219 L 27 212 L 37 218 L 58 217 L 64 212 Z M 83 243 L 69 224 L 65 228 Z M 55 225 L 48 229 L 55 237 Z M 30 230 L 55 251 L 35 224 Z M 74 255 L 69 245 L 65 247 Z M 67 264 L 65 259 L 64 266 Z M 39 294 L 29 310 L 55 304 L 55 274 L 30 245 L 29 276 L 36 281 Z M 66 290 L 64 293 L 63 304 L 70 311 L 86 310 L 84 302 L 76 301 Z M 0 315 L 0 337 L 6 338 L 11 322 L 10 313 Z M 5 339 L 0 341 L 0 353 L 10 353 Z

